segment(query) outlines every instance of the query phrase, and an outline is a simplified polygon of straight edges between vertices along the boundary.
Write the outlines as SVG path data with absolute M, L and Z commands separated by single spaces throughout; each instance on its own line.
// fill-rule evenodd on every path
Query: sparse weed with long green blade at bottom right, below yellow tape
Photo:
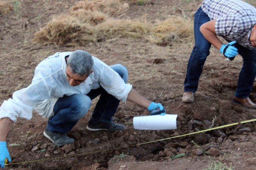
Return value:
M 208 169 L 204 169 L 204 170 L 233 170 L 234 169 L 232 164 L 230 164 L 230 167 L 228 167 L 227 164 L 221 162 L 222 159 L 225 157 L 225 154 L 222 158 L 220 157 L 219 159 L 220 161 L 219 160 L 215 161 L 214 158 L 211 155 L 207 154 L 207 152 L 203 148 L 201 148 L 197 143 L 195 143 L 194 141 L 191 141 L 191 142 L 203 152 L 204 156 L 206 156 L 209 159 Z

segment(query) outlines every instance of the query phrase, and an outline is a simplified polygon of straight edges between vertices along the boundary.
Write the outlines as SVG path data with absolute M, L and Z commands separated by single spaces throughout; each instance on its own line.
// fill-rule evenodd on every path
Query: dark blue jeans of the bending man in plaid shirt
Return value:
M 200 32 L 199 28 L 204 23 L 210 21 L 201 7 L 194 15 L 194 37 L 195 45 L 188 60 L 186 78 L 184 82 L 184 91 L 196 92 L 198 81 L 203 71 L 204 62 L 210 54 L 211 43 L 209 43 Z M 243 67 L 240 71 L 237 90 L 235 96 L 237 98 L 247 98 L 253 87 L 256 76 L 256 50 L 249 50 L 241 45 L 234 45 L 238 49 L 238 53 L 243 57 Z

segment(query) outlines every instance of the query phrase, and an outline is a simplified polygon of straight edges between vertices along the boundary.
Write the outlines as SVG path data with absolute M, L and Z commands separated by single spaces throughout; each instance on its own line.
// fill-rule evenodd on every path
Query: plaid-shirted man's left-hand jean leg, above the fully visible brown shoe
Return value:
M 210 54 L 211 43 L 209 43 L 200 32 L 200 27 L 204 23 L 210 21 L 201 7 L 194 15 L 194 38 L 195 45 L 188 60 L 187 73 L 184 81 L 184 91 L 196 92 L 198 81 L 203 71 L 204 62 Z

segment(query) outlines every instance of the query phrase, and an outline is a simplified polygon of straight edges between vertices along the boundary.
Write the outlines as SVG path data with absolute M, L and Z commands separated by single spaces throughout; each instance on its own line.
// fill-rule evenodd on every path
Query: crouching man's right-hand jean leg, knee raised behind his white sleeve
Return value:
M 127 82 L 128 70 L 125 66 L 122 64 L 115 64 L 110 67 L 122 77 L 125 83 Z M 112 122 L 112 117 L 117 112 L 120 100 L 108 94 L 102 87 L 91 90 L 87 95 L 91 100 L 100 95 L 99 101 L 92 113 L 91 121 L 93 123 L 97 123 L 98 121 L 106 123 Z

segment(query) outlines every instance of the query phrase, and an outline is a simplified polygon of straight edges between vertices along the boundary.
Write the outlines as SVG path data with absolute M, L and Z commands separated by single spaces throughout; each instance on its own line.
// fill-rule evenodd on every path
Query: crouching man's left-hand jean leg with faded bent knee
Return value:
M 69 132 L 89 110 L 91 98 L 74 94 L 58 98 L 53 107 L 54 116 L 48 120 L 47 130 L 55 133 Z

